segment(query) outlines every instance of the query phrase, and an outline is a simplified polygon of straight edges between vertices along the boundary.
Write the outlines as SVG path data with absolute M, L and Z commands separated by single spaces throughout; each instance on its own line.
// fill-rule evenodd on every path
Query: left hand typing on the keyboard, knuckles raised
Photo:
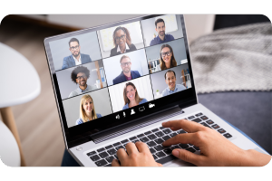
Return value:
M 162 167 L 154 160 L 150 149 L 145 143 L 136 142 L 126 145 L 127 152 L 120 148 L 117 151 L 121 165 L 117 159 L 112 160 L 112 167 Z

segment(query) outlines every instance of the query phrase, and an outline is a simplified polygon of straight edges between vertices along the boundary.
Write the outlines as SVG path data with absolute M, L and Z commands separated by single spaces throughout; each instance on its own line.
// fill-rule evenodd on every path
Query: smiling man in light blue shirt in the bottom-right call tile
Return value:
M 181 90 L 186 90 L 186 87 L 181 84 L 176 84 L 176 73 L 175 71 L 166 71 L 164 79 L 168 87 L 162 91 L 162 96 L 168 96 L 172 93 L 176 93 Z

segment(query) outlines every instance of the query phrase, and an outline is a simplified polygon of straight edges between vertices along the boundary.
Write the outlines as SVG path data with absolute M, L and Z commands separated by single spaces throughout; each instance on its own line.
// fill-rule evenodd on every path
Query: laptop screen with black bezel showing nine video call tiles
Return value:
M 44 40 L 67 141 L 196 100 L 181 14 Z

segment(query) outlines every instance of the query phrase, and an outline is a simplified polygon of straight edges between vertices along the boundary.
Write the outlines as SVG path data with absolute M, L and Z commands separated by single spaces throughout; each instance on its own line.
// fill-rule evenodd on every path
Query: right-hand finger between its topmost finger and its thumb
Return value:
M 184 133 L 184 134 L 179 134 L 176 135 L 173 138 L 167 139 L 166 141 L 164 141 L 162 143 L 162 145 L 164 147 L 170 147 L 171 145 L 177 145 L 179 143 L 182 144 L 193 144 L 193 145 L 197 145 L 196 142 L 198 141 L 198 139 L 196 138 L 195 133 Z

